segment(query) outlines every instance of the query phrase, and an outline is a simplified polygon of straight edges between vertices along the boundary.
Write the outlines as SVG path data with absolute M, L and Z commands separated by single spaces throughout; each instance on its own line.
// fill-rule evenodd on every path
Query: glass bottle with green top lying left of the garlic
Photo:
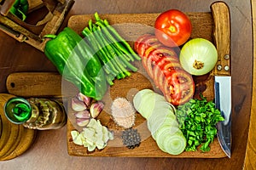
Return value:
M 10 122 L 38 130 L 61 128 L 67 122 L 61 102 L 50 99 L 11 98 L 4 105 L 4 113 Z

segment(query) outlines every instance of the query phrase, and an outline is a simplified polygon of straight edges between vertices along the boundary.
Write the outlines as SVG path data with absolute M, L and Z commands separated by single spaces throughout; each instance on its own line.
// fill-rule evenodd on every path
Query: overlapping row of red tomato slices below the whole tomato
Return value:
M 188 72 L 183 71 L 176 52 L 163 46 L 153 35 L 144 35 L 134 48 L 142 58 L 148 76 L 172 105 L 182 105 L 195 93 L 195 83 Z

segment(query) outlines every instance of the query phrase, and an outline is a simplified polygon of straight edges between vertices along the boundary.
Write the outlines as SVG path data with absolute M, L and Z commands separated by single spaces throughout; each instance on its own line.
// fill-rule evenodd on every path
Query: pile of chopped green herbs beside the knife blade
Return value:
M 209 151 L 209 144 L 217 134 L 216 124 L 224 121 L 215 104 L 202 95 L 201 99 L 190 99 L 186 104 L 177 106 L 176 116 L 187 139 L 186 151 L 195 151 L 199 145 L 201 151 Z

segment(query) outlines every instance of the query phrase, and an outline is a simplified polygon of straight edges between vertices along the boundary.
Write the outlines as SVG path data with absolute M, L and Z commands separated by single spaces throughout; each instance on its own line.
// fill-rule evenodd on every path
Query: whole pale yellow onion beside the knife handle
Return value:
M 212 71 L 218 61 L 218 52 L 207 39 L 194 38 L 184 44 L 179 60 L 189 74 L 202 76 Z

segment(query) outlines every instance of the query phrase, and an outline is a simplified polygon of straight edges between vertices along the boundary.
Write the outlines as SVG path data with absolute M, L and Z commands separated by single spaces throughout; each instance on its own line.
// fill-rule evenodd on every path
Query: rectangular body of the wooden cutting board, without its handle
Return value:
M 221 12 L 221 11 L 220 11 Z M 213 31 L 213 19 L 212 13 L 187 13 L 189 19 L 192 22 L 193 31 L 191 38 L 203 37 L 212 41 Z M 102 19 L 106 19 L 109 23 L 115 26 L 125 40 L 131 42 L 133 45 L 137 37 L 144 33 L 153 33 L 152 26 L 154 26 L 154 20 L 159 14 L 100 14 Z M 68 20 L 68 26 L 79 34 L 87 26 L 89 20 L 94 20 L 92 14 L 90 15 L 74 15 Z M 143 26 L 143 29 L 142 29 Z M 67 122 L 67 150 L 71 156 L 127 156 L 127 157 L 199 157 L 199 158 L 221 158 L 225 157 L 223 150 L 218 144 L 218 140 L 215 139 L 210 145 L 211 151 L 202 153 L 201 151 L 195 152 L 183 152 L 178 156 L 172 156 L 161 151 L 154 139 L 151 138 L 148 132 L 147 123 L 145 119 L 137 114 L 134 128 L 138 129 L 138 132 L 142 135 L 143 142 L 139 147 L 134 150 L 129 150 L 122 145 L 120 139 L 121 129 L 114 125 L 111 117 L 109 116 L 110 106 L 113 99 L 116 97 L 125 97 L 132 101 L 134 94 L 143 88 L 151 88 L 157 91 L 154 87 L 154 83 L 148 78 L 147 74 L 143 70 L 141 63 L 138 61 L 135 63 L 139 70 L 136 73 L 132 73 L 131 77 L 124 80 L 116 80 L 113 87 L 108 89 L 108 93 L 104 96 L 102 101 L 105 103 L 104 111 L 98 119 L 104 126 L 114 131 L 114 140 L 108 142 L 108 146 L 103 150 L 95 150 L 88 152 L 84 146 L 73 144 L 71 137 L 71 131 L 78 129 L 73 123 L 73 111 L 68 110 L 69 121 Z M 213 77 L 207 75 L 204 77 L 195 78 L 195 97 L 202 93 L 207 99 L 212 100 L 214 98 L 213 93 Z M 75 95 L 75 94 L 74 94 Z

